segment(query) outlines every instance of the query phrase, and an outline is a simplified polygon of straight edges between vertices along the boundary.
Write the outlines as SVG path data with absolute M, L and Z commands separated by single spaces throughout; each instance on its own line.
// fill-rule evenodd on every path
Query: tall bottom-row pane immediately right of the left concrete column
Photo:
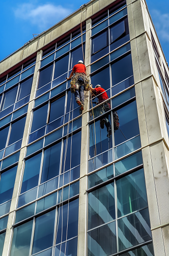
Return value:
M 14 228 L 10 256 L 29 256 L 33 220 Z

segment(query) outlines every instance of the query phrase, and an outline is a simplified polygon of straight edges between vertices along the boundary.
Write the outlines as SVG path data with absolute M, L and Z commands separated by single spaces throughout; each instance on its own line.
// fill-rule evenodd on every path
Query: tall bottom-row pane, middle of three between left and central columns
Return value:
M 32 253 L 42 251 L 53 243 L 55 210 L 36 219 Z

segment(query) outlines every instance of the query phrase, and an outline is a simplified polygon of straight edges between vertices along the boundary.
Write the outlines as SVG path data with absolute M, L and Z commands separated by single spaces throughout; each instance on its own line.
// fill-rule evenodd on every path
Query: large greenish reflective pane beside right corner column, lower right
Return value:
M 117 180 L 118 217 L 148 206 L 144 170 Z

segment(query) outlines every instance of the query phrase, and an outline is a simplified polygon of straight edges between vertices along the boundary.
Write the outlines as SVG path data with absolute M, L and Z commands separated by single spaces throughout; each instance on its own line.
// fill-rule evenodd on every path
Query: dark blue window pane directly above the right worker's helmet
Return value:
M 91 77 L 92 84 L 100 84 L 104 90 L 107 90 L 110 88 L 110 78 L 109 78 L 109 67 L 103 69 L 96 75 Z

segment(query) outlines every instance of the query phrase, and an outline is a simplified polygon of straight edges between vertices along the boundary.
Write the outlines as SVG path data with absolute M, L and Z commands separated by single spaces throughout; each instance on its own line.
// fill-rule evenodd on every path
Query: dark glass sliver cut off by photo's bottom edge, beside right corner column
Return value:
M 120 256 L 154 256 L 153 244 L 144 245 L 120 254 Z

